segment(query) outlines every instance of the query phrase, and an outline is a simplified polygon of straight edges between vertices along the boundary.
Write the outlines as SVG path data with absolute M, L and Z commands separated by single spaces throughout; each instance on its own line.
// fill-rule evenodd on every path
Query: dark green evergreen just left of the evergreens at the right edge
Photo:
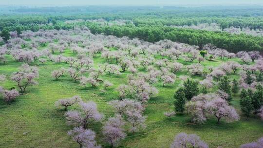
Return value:
M 248 118 L 250 116 L 251 111 L 253 111 L 253 105 L 251 102 L 251 98 L 249 96 L 241 98 L 240 99 L 240 107 L 241 107 L 241 111 Z

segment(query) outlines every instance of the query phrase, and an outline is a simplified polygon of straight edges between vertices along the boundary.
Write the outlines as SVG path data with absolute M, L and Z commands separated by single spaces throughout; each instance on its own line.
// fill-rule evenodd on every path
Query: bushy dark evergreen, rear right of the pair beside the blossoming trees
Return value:
M 194 80 L 189 80 L 184 82 L 184 93 L 186 99 L 189 101 L 191 98 L 199 93 L 198 82 Z

